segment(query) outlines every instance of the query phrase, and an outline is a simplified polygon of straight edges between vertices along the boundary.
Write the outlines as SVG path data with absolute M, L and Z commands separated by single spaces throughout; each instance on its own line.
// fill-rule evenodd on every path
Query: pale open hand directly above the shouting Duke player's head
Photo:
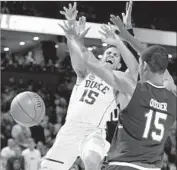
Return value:
M 110 23 L 101 25 L 101 31 L 98 32 L 103 36 L 102 41 L 109 45 L 117 45 L 120 41 L 119 36 L 115 34 L 115 28 Z

